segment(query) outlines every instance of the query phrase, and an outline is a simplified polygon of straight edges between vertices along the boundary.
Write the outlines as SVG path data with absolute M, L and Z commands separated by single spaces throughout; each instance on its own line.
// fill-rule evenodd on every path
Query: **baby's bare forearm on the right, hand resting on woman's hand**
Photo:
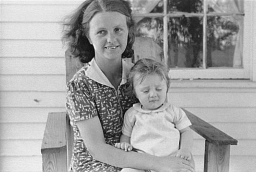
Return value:
M 190 127 L 186 127 L 180 132 L 180 149 L 178 150 L 176 156 L 186 159 L 188 161 L 191 160 L 191 151 L 193 147 L 193 132 Z

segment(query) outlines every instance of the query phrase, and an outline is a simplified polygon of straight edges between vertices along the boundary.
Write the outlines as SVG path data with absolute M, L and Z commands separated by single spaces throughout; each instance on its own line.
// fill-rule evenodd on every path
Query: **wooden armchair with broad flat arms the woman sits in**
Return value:
M 151 53 L 155 53 L 152 57 L 155 57 L 158 50 L 155 51 L 154 47 L 150 49 Z M 140 53 L 136 47 L 135 55 L 149 56 Z M 66 81 L 82 66 L 83 64 L 67 51 Z M 237 145 L 237 140 L 183 110 L 192 122 L 192 130 L 205 139 L 204 172 L 229 172 L 230 145 Z M 41 146 L 43 172 L 68 172 L 74 141 L 72 130 L 66 112 L 49 113 Z

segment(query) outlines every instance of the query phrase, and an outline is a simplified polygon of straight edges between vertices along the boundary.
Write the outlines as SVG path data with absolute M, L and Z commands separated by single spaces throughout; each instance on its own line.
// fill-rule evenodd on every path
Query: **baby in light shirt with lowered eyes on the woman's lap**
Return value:
M 182 109 L 166 102 L 170 84 L 166 66 L 142 58 L 131 68 L 128 82 L 128 92 L 134 94 L 139 103 L 125 113 L 120 143 L 115 147 L 157 156 L 174 155 L 190 161 L 191 122 Z

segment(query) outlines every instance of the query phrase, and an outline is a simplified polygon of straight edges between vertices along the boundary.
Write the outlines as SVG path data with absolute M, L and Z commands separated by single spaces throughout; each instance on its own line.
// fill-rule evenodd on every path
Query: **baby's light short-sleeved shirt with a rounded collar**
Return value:
M 191 125 L 185 112 L 170 103 L 146 111 L 136 103 L 124 115 L 122 133 L 138 152 L 167 156 L 179 148 L 179 130 Z

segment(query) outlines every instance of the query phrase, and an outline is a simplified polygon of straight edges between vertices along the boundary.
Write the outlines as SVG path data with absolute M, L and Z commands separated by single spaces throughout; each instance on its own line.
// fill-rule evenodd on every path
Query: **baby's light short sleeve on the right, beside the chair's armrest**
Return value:
M 176 106 L 172 106 L 172 108 L 174 112 L 174 124 L 178 130 L 182 130 L 192 125 L 186 113 L 181 108 Z

